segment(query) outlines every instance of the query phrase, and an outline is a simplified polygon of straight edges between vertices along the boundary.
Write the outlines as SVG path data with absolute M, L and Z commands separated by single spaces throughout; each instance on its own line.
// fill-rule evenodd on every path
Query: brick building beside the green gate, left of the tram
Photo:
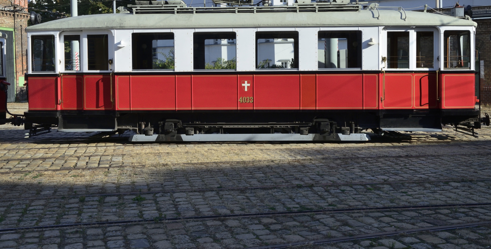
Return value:
M 27 70 L 27 0 L 0 0 L 0 32 L 7 35 L 5 73 L 11 85 L 9 102 L 26 100 L 24 73 Z M 13 90 L 13 91 L 12 91 Z

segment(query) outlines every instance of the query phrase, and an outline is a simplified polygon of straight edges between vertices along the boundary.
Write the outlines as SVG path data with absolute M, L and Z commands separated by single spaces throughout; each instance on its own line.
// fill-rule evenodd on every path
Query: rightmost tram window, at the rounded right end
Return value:
M 443 33 L 444 68 L 470 69 L 470 32 L 445 31 Z

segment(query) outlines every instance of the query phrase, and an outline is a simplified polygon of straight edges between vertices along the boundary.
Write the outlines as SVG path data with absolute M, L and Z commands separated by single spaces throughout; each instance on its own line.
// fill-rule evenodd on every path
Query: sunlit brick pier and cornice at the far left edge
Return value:
M 12 0 L 12 3 L 14 1 Z M 15 0 L 16 4 L 19 4 L 18 1 Z M 27 4 L 27 1 L 25 1 Z M 10 6 L 8 4 L 7 6 Z M 15 15 L 15 16 L 14 16 Z M 16 75 L 16 90 L 17 90 L 17 100 L 22 101 L 26 100 L 26 91 L 24 87 L 24 81 L 22 78 L 24 77 L 24 73 L 27 70 L 27 34 L 26 27 L 27 21 L 29 20 L 29 13 L 27 12 L 6 12 L 0 11 L 0 27 L 4 28 L 13 28 L 14 36 L 15 36 L 15 75 Z M 19 81 L 19 77 L 21 77 L 21 81 Z M 14 82 L 10 82 L 14 83 Z

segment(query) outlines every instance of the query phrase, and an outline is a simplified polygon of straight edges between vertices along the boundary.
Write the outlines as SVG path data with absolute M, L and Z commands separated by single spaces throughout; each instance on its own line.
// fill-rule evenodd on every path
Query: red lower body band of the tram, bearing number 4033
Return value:
M 473 74 L 32 76 L 29 110 L 473 108 Z M 439 82 L 439 83 L 438 83 Z

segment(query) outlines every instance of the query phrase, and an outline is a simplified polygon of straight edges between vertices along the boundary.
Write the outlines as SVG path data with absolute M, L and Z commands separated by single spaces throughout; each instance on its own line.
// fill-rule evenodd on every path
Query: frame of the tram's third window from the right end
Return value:
M 390 34 L 390 35 L 389 35 Z M 404 36 L 403 36 L 404 34 Z M 407 35 L 407 36 L 406 36 Z M 407 55 L 404 56 L 403 54 L 401 54 L 401 56 L 399 56 L 398 54 L 398 50 L 399 50 L 399 38 L 401 37 L 404 37 L 404 38 L 407 38 L 407 44 L 408 44 L 408 50 L 407 50 Z M 397 40 L 392 40 L 393 38 L 397 38 Z M 390 39 L 390 41 L 389 41 Z M 390 31 L 387 31 L 386 32 L 386 39 L 385 39 L 385 42 L 386 42 L 386 57 L 387 57 L 387 62 L 386 62 L 386 68 L 389 69 L 389 70 L 409 70 L 411 68 L 411 61 L 412 61 L 412 54 L 411 54 L 411 51 L 412 51 L 412 48 L 411 48 L 411 32 L 410 31 L 399 31 L 399 30 L 390 30 Z M 391 46 L 391 45 L 394 45 L 394 44 L 397 44 L 397 46 Z M 397 51 L 397 55 L 392 55 L 392 50 L 395 50 Z M 391 61 L 391 57 L 396 57 L 396 59 L 394 61 Z M 399 59 L 399 57 L 401 57 L 401 59 Z M 399 60 L 402 60 L 403 57 L 407 57 L 408 61 L 407 63 L 404 63 L 405 65 L 408 65 L 407 67 L 399 67 Z M 391 64 L 395 64 L 397 65 L 396 67 L 392 67 Z

